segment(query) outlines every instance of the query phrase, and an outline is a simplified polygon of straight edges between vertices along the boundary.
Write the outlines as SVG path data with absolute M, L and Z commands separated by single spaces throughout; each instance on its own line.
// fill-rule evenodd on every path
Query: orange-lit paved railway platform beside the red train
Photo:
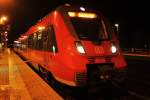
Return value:
M 0 100 L 63 100 L 10 49 L 0 54 Z

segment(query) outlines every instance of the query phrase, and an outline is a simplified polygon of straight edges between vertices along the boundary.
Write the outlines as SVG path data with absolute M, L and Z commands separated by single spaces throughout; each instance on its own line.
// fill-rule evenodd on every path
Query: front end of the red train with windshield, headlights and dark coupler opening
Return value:
M 125 79 L 126 61 L 107 19 L 83 7 L 67 9 L 66 54 L 76 86 L 96 85 Z M 71 39 L 74 37 L 74 39 Z M 67 60 L 67 59 L 66 59 Z

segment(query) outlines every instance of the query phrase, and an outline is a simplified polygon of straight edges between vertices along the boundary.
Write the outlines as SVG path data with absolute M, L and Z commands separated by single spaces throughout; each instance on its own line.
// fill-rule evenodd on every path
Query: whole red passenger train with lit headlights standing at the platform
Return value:
M 126 61 L 112 26 L 100 13 L 60 6 L 17 41 L 20 53 L 50 80 L 69 86 L 124 79 Z

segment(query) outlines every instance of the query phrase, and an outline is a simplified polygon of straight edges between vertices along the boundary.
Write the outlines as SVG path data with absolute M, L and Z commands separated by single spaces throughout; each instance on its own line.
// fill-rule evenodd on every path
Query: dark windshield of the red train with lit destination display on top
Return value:
M 70 13 L 69 16 L 79 39 L 93 42 L 110 39 L 104 20 L 95 13 L 74 12 Z

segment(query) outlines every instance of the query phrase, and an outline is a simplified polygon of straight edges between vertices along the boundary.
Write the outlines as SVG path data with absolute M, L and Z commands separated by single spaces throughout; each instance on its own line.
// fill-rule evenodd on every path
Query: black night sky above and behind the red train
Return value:
M 1 1 L 12 1 L 2 6 Z M 57 6 L 70 3 L 101 11 L 114 25 L 119 23 L 122 47 L 150 46 L 149 3 L 143 0 L 0 0 L 0 14 L 9 16 L 9 43 Z

